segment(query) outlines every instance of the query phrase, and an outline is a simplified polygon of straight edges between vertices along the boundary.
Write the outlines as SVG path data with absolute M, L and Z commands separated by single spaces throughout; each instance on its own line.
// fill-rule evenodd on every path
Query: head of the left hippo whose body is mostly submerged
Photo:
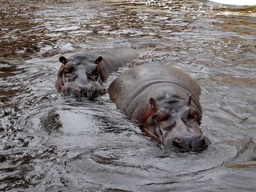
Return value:
M 59 60 L 62 65 L 55 83 L 59 92 L 74 97 L 97 97 L 106 93 L 99 67 L 101 56 L 93 60 L 85 54 L 74 54 L 68 59 L 61 56 Z

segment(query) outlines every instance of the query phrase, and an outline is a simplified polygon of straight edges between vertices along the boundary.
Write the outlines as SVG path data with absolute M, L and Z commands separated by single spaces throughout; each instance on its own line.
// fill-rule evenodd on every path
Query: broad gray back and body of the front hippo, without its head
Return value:
M 117 77 L 109 86 L 109 97 L 125 115 L 143 124 L 143 113 L 148 108 L 150 97 L 161 100 L 176 95 L 192 102 L 199 113 L 200 86 L 188 74 L 178 68 L 161 63 L 147 63 L 133 67 Z

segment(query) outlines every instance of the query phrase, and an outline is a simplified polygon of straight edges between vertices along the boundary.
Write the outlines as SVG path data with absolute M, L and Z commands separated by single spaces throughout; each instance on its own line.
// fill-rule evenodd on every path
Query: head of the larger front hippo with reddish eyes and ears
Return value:
M 211 141 L 202 134 L 201 114 L 189 100 L 168 97 L 158 103 L 150 98 L 150 110 L 143 132 L 160 141 L 164 148 L 179 152 L 202 151 Z

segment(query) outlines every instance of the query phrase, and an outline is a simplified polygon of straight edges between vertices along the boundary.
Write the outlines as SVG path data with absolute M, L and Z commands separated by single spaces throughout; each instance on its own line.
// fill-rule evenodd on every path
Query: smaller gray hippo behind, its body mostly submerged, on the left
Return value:
M 102 81 L 116 68 L 138 58 L 134 49 L 116 47 L 103 51 L 77 53 L 59 58 L 62 63 L 55 87 L 74 97 L 97 97 L 106 93 Z

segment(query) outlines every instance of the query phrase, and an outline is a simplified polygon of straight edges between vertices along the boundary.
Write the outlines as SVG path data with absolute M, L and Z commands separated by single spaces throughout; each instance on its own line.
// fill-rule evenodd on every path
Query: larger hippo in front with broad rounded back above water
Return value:
M 179 152 L 202 151 L 211 143 L 200 127 L 200 93 L 194 79 L 161 63 L 131 68 L 109 86 L 116 108 L 137 120 L 152 140 Z

